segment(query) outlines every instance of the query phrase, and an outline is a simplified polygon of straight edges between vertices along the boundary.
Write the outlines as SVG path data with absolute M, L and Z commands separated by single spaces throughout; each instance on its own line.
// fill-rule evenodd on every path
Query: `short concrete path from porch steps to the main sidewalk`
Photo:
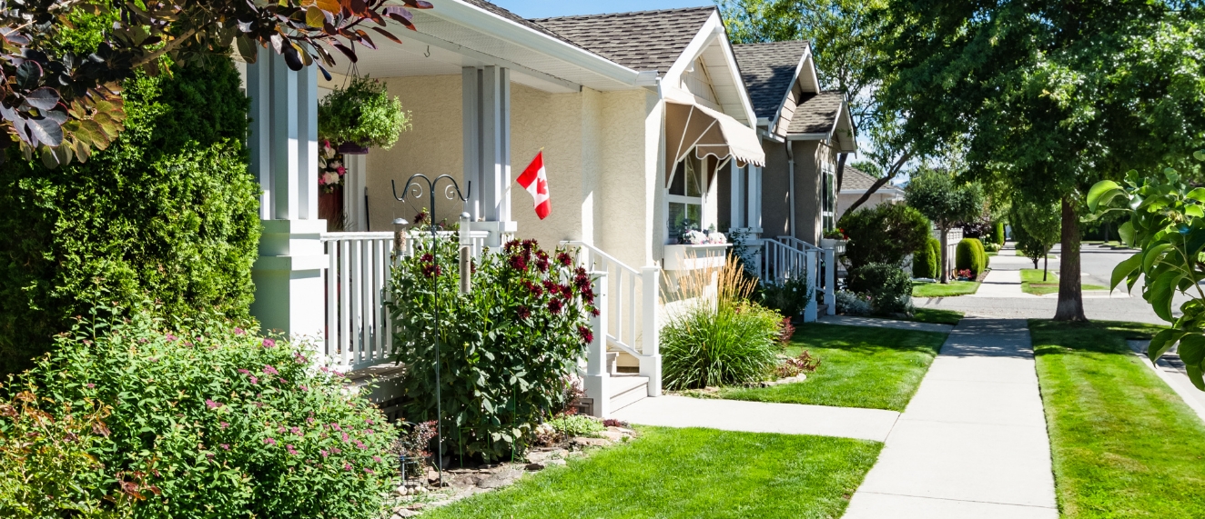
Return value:
M 882 442 L 899 415 L 895 411 L 883 409 L 665 395 L 616 411 L 612 418 L 664 427 L 839 436 Z

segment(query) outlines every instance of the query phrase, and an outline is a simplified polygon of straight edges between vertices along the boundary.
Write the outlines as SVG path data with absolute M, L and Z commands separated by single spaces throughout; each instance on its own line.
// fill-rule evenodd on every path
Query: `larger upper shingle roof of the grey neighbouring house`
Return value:
M 758 118 L 774 118 L 790 92 L 806 41 L 735 45 L 736 64 Z

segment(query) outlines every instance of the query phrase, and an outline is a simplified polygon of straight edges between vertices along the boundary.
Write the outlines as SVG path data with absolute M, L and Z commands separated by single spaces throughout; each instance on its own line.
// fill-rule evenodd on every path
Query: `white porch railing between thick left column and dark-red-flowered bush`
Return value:
M 324 352 L 343 371 L 390 360 L 393 334 L 384 302 L 393 232 L 327 232 Z

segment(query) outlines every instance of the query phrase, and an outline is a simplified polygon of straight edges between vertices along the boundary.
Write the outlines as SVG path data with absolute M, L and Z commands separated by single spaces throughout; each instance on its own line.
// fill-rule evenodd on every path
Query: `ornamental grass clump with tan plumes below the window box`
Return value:
M 750 384 L 772 376 L 783 348 L 783 318 L 750 301 L 757 282 L 741 269 L 729 261 L 677 281 L 660 337 L 668 389 Z

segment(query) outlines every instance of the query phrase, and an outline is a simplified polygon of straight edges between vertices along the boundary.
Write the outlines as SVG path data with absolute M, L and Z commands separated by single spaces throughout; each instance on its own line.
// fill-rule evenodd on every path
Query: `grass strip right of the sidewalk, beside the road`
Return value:
M 1030 320 L 1064 519 L 1200 518 L 1205 423 L 1125 344 L 1157 326 Z

